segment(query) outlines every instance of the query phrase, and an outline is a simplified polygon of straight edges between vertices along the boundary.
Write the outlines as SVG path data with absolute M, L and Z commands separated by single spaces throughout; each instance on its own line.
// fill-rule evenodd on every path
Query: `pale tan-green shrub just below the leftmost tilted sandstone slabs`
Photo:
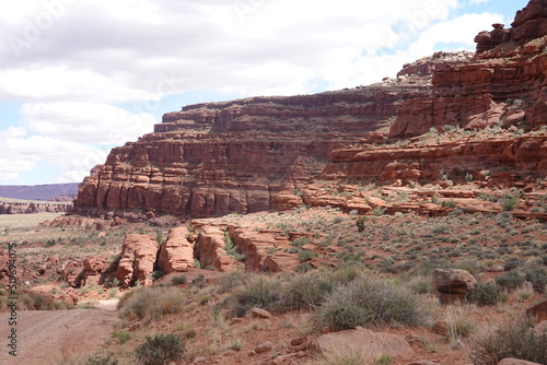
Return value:
M 179 313 L 186 303 L 186 295 L 173 286 L 138 287 L 121 297 L 118 308 L 121 316 L 132 313 L 140 319 L 158 319 Z

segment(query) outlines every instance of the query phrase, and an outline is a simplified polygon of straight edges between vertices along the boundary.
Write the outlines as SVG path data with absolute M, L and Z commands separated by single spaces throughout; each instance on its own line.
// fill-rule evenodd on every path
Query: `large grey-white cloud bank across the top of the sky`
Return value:
M 396 24 L 417 32 L 457 7 L 456 0 L 73 2 L 47 27 L 37 21 L 48 14 L 45 7 L 30 12 L 27 22 L 4 24 L 3 33 L 24 46 L 20 57 L 0 49 L 0 96 L 119 103 L 196 89 L 305 90 L 310 79 L 302 72 L 331 79 L 334 64 L 353 69 L 356 52 L 385 47 Z M 35 37 L 25 36 L 28 21 Z M 279 74 L 279 64 L 286 76 L 278 80 L 271 74 Z M 175 79 L 158 94 L 165 73 Z M 286 87 L 288 79 L 300 80 L 300 87 Z

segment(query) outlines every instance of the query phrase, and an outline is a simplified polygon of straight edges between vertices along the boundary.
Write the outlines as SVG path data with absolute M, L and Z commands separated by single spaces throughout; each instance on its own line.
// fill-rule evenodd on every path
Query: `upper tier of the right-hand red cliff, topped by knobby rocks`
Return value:
M 444 126 L 546 123 L 547 0 L 532 0 L 512 25 L 493 24 L 494 31 L 476 37 L 478 54 L 472 61 L 437 70 L 431 93 L 404 103 L 389 137 Z

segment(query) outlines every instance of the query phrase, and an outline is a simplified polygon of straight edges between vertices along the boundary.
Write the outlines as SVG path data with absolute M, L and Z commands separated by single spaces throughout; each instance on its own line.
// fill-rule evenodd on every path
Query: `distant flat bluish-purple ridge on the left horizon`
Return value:
M 78 193 L 78 182 L 0 186 L 0 197 L 24 200 L 49 200 L 62 195 Z

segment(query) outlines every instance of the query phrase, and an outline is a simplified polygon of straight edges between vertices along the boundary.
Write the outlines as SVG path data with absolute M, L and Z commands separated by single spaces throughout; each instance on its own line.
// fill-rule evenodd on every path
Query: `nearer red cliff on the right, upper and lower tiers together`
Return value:
M 410 184 L 450 176 L 504 186 L 542 180 L 547 173 L 546 24 L 547 1 L 532 0 L 512 28 L 494 24 L 494 31 L 480 33 L 472 60 L 437 68 L 431 92 L 403 103 L 389 137 L 409 140 L 333 151 L 324 177 Z M 450 132 L 457 128 L 463 129 Z

